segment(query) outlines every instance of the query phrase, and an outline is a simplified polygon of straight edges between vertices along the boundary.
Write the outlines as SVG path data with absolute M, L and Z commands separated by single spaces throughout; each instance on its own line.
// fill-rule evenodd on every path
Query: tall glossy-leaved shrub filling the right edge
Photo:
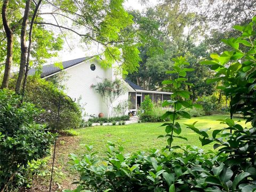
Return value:
M 222 39 L 231 47 L 221 55 L 211 54 L 212 60 L 202 61 L 203 65 L 211 65 L 215 78 L 207 82 L 221 81 L 219 87 L 230 97 L 230 114 L 242 111 L 250 128 L 243 127 L 231 118 L 218 119 L 226 127 L 214 130 L 212 137 L 206 132 L 200 132 L 195 125 L 187 127 L 199 135 L 202 145 L 215 142 L 214 149 L 219 148 L 219 155 L 227 153 L 219 167 L 213 169 L 214 175 L 206 177 L 206 182 L 215 183 L 226 191 L 237 190 L 255 191 L 256 185 L 256 17 L 249 25 L 234 26 L 241 31 L 238 38 Z M 214 170 L 218 169 L 218 173 Z M 226 175 L 225 179 L 221 174 Z M 246 184 L 240 184 L 241 182 Z

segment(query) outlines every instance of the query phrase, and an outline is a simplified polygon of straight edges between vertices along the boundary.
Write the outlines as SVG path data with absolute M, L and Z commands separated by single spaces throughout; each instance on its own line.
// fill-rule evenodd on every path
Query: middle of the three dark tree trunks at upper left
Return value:
M 16 87 L 15 87 L 15 92 L 17 94 L 20 94 L 21 82 L 22 82 L 23 76 L 25 74 L 25 68 L 26 68 L 26 60 L 27 60 L 26 28 L 28 25 L 29 9 L 30 9 L 30 0 L 27 0 L 24 16 L 23 16 L 23 20 L 22 20 L 22 25 L 21 25 L 21 33 L 20 33 L 20 49 L 21 49 L 20 71 L 19 71 L 19 75 L 18 75 Z

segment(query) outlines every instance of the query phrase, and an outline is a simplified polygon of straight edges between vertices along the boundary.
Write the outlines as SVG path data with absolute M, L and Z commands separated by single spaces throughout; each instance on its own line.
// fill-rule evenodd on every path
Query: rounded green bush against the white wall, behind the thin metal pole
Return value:
M 12 81 L 10 87 L 14 87 Z M 39 109 L 44 109 L 36 121 L 45 123 L 52 130 L 57 128 L 58 102 L 60 97 L 66 94 L 55 87 L 51 82 L 45 81 L 37 76 L 29 76 L 24 101 L 34 103 Z M 58 129 L 75 129 L 78 128 L 82 121 L 82 113 L 75 102 L 68 98 L 61 99 L 60 122 Z

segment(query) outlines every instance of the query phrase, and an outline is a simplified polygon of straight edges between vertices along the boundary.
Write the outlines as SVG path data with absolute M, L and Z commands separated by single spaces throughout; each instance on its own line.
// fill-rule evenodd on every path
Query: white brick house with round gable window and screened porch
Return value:
M 96 57 L 85 57 L 69 61 L 62 62 L 63 69 L 66 71 L 68 77 L 63 84 L 67 87 L 65 92 L 71 98 L 80 98 L 82 104 L 84 104 L 84 118 L 90 118 L 91 116 L 98 116 L 99 113 L 103 113 L 106 117 L 108 115 L 108 108 L 103 103 L 100 94 L 98 94 L 92 87 L 92 84 L 101 82 L 104 78 L 114 80 L 116 78 L 121 79 L 125 85 L 125 92 L 113 103 L 113 107 L 116 107 L 119 102 L 128 100 L 129 95 L 132 102 L 132 109 L 127 108 L 127 114 L 129 111 L 136 111 L 137 107 L 145 98 L 145 95 L 150 95 L 153 102 L 163 101 L 170 99 L 170 92 L 148 91 L 142 89 L 140 86 L 135 85 L 129 80 L 124 80 L 120 70 L 117 70 L 117 66 L 113 65 L 112 68 L 104 69 L 100 66 Z M 48 78 L 60 73 L 61 69 L 52 65 L 45 65 L 42 68 L 41 78 Z M 35 74 L 35 69 L 29 70 L 29 75 Z M 113 109 L 110 109 L 113 111 Z M 110 113 L 114 116 L 118 114 Z

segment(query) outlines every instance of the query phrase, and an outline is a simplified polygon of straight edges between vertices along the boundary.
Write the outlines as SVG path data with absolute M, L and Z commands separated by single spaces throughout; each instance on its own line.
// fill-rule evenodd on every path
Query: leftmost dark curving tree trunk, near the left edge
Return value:
M 9 26 L 9 22 L 7 21 L 6 17 L 6 10 L 9 4 L 9 0 L 3 1 L 2 6 L 2 20 L 3 26 L 7 37 L 7 53 L 6 53 L 6 61 L 5 61 L 5 68 L 4 68 L 4 77 L 1 89 L 8 87 L 9 78 L 10 78 L 10 71 L 12 67 L 12 54 L 13 54 L 13 31 Z

